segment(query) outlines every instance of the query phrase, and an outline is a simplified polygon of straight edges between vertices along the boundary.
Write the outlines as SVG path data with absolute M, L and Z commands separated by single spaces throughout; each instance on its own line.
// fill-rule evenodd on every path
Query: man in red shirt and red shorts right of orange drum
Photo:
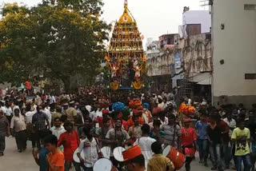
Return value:
M 183 121 L 184 121 L 184 127 L 181 129 L 182 150 L 183 150 L 183 153 L 186 155 L 186 164 L 185 164 L 186 171 L 190 171 L 190 163 L 193 160 L 194 153 L 197 149 L 197 144 L 196 144 L 197 137 L 195 136 L 194 129 L 190 127 L 190 118 L 185 118 Z

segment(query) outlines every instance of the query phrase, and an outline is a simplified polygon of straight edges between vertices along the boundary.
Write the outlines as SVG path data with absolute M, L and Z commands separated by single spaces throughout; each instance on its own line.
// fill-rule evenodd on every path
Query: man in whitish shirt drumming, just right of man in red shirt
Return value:
M 86 139 L 81 141 L 78 147 L 78 158 L 80 160 L 83 169 L 86 171 L 93 171 L 93 167 L 99 157 L 102 157 L 100 148 L 98 145 L 98 139 L 93 137 L 93 129 L 88 125 L 82 129 L 83 133 L 86 135 Z M 84 153 L 84 157 L 81 156 L 81 153 Z

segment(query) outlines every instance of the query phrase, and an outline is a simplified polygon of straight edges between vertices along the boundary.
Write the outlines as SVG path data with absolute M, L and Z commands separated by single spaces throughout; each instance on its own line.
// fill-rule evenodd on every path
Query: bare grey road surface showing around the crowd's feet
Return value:
M 1 171 L 39 170 L 38 165 L 34 162 L 34 158 L 32 156 L 32 148 L 31 148 L 30 141 L 28 141 L 28 148 L 26 149 L 26 152 L 18 153 L 14 137 L 6 138 L 6 151 L 5 151 L 4 157 L 0 157 L 0 170 Z M 74 171 L 74 169 L 71 169 L 71 170 Z M 185 171 L 185 168 L 183 167 L 181 170 Z M 192 161 L 191 171 L 210 171 L 210 167 L 206 168 L 202 166 L 201 164 L 198 163 L 198 159 L 197 159 L 196 161 Z M 232 169 L 226 170 L 226 171 L 232 171 Z

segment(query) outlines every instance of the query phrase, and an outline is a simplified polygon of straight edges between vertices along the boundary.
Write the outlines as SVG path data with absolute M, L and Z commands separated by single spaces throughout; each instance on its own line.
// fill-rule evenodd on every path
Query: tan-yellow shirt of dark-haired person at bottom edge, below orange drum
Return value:
M 148 161 L 147 171 L 166 171 L 167 167 L 174 169 L 174 164 L 170 159 L 162 154 L 154 154 L 150 161 Z

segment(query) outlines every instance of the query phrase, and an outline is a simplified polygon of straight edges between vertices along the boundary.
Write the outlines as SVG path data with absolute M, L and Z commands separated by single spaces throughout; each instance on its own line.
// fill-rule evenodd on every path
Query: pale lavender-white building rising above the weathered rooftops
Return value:
M 210 33 L 210 18 L 211 14 L 209 10 L 190 10 L 185 6 L 182 14 L 182 26 L 178 27 L 180 38 Z

